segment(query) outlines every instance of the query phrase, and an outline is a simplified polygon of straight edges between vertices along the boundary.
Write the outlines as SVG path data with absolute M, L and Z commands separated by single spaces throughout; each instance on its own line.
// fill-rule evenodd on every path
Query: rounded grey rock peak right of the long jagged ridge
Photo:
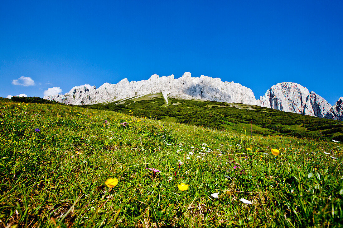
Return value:
M 315 92 L 297 83 L 278 83 L 272 86 L 257 105 L 285 112 L 324 117 L 331 105 Z

